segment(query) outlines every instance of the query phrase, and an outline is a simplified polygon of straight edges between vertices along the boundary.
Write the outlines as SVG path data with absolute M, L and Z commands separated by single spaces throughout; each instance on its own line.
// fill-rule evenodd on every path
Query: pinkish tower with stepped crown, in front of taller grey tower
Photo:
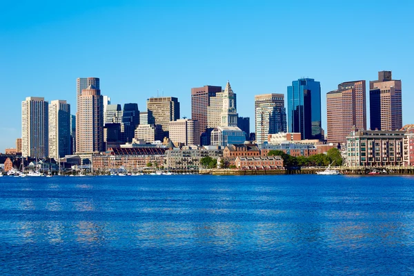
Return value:
M 76 116 L 76 152 L 91 153 L 103 150 L 103 99 L 95 86 L 83 89 L 79 96 Z

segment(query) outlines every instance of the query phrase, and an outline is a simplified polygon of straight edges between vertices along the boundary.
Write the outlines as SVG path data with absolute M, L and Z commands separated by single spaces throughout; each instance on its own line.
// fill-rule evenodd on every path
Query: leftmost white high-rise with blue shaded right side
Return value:
M 21 102 L 21 155 L 48 156 L 48 102 L 43 97 L 27 97 Z

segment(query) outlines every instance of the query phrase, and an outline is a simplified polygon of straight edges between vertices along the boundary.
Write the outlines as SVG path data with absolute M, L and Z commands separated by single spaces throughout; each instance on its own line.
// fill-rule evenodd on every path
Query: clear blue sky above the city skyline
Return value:
M 339 83 L 402 80 L 403 124 L 414 124 L 414 1 L 3 1 L 0 9 L 0 152 L 21 137 L 21 101 L 65 99 L 76 112 L 76 79 L 99 77 L 112 103 L 178 97 L 226 86 L 237 112 L 254 97 L 284 93 L 309 77 L 326 93 Z M 367 87 L 367 110 L 369 110 Z M 369 126 L 369 115 L 367 117 Z

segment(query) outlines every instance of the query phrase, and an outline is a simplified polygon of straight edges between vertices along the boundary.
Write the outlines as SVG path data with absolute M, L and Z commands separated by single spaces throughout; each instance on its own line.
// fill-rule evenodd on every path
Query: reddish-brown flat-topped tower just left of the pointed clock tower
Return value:
M 221 92 L 221 86 L 203 86 L 191 88 L 191 119 L 200 123 L 200 135 L 207 128 L 207 108 L 210 98 Z

